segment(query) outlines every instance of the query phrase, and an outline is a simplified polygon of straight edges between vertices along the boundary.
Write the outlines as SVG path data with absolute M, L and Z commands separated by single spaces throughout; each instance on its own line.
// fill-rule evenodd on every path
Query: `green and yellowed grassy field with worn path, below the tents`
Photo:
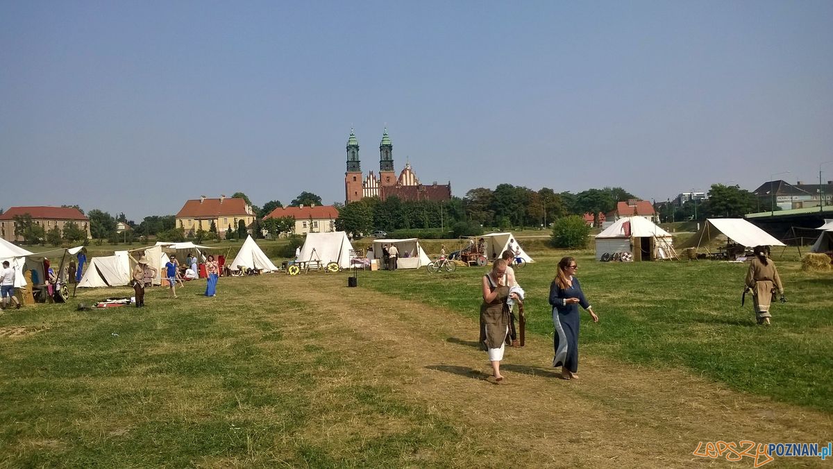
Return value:
M 132 292 L 108 288 L 2 312 L 0 467 L 689 467 L 697 441 L 833 434 L 829 274 L 779 262 L 789 302 L 767 328 L 740 307 L 743 264 L 581 252 L 601 322 L 582 323 L 582 379 L 564 382 L 546 305 L 564 252 L 531 254 L 529 343 L 507 351 L 501 386 L 476 348 L 481 268 L 361 272 L 358 288 L 344 272 L 222 278 L 215 298 L 191 282 L 177 300 L 154 288 L 145 308 L 75 311 Z

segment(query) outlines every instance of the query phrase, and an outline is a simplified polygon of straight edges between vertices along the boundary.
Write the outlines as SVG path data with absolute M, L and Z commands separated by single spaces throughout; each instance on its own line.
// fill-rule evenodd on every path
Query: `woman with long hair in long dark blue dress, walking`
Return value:
M 599 322 L 599 317 L 581 292 L 581 285 L 575 277 L 577 268 L 576 259 L 562 258 L 558 262 L 556 278 L 550 285 L 552 323 L 556 327 L 553 337 L 556 357 L 552 359 L 552 367 L 561 366 L 561 377 L 564 379 L 578 378 L 578 305 L 590 313 L 593 322 Z

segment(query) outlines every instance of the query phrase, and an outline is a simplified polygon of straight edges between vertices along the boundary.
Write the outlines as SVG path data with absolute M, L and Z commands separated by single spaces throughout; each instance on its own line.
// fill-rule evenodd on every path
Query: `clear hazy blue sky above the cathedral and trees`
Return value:
M 459 197 L 817 182 L 833 2 L 0 0 L 0 207 L 343 202 L 386 125 Z

